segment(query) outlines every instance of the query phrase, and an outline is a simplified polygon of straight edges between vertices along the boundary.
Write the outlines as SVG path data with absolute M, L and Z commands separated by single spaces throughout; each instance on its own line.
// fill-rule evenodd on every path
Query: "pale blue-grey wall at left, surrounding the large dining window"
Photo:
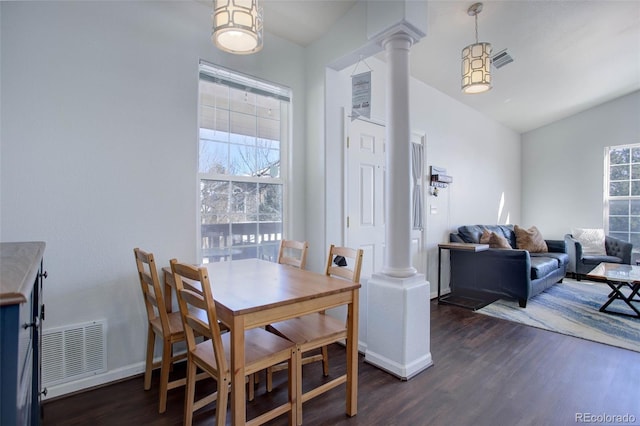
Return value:
M 146 319 L 132 250 L 154 251 L 158 265 L 196 260 L 199 59 L 293 89 L 299 204 L 303 49 L 267 34 L 256 55 L 223 54 L 198 2 L 0 8 L 0 239 L 46 241 L 45 329 L 107 319 L 109 371 L 75 385 L 140 372 Z M 305 212 L 296 211 L 301 237 Z

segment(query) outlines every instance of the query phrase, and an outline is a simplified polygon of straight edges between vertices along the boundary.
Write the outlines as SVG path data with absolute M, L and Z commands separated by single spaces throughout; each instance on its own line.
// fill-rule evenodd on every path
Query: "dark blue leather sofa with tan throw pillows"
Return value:
M 513 225 L 467 225 L 451 233 L 449 241 L 479 243 L 484 229 L 505 237 L 514 249 L 452 250 L 449 282 L 452 292 L 480 292 L 517 299 L 520 307 L 525 308 L 531 297 L 562 282 L 569 263 L 564 240 L 545 240 L 548 253 L 529 253 L 515 249 Z

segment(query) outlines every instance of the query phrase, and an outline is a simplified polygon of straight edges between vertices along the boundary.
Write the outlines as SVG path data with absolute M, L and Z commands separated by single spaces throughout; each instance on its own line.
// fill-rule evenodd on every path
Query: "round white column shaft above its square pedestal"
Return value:
M 397 278 L 415 275 L 411 266 L 411 126 L 409 122 L 409 50 L 413 39 L 396 33 L 382 42 L 387 56 L 387 180 L 385 265 Z

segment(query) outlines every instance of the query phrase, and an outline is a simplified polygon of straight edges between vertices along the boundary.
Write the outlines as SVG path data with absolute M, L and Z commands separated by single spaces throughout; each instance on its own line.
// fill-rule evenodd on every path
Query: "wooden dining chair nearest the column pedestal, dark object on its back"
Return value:
M 360 271 L 362 269 L 362 249 L 352 249 L 348 247 L 329 247 L 325 274 L 340 277 L 354 283 L 360 282 Z M 279 336 L 282 336 L 298 345 L 298 386 L 302 386 L 302 366 L 312 362 L 322 361 L 322 372 L 329 375 L 329 354 L 330 343 L 340 342 L 347 338 L 347 327 L 344 321 L 338 320 L 324 311 L 304 315 L 271 324 L 267 329 Z M 310 351 L 320 350 L 318 354 L 307 354 Z M 267 385 L 270 378 L 267 377 Z M 339 383 L 324 383 L 315 389 L 301 394 L 301 401 L 298 405 L 298 424 L 302 422 L 302 403 L 314 398 L 321 393 L 332 389 Z

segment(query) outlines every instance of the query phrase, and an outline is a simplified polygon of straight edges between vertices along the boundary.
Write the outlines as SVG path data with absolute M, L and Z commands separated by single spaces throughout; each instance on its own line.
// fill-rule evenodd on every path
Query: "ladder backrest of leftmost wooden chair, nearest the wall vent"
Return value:
M 169 319 L 164 304 L 164 296 L 160 289 L 160 280 L 158 279 L 158 270 L 153 253 L 145 252 L 137 247 L 133 249 L 133 253 L 147 310 L 147 319 L 152 322 L 159 318 L 162 332 L 169 333 Z

